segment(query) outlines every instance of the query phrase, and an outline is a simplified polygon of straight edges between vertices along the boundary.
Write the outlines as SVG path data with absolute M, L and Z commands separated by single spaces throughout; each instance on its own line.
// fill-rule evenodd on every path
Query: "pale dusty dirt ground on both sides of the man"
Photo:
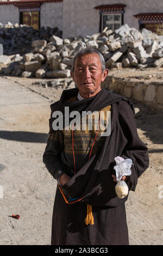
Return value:
M 116 72 L 112 70 L 110 75 Z M 146 72 L 143 75 L 148 76 Z M 161 72 L 156 72 L 154 78 L 160 79 Z M 133 74 L 139 77 L 142 71 Z M 59 99 L 62 90 L 33 85 L 36 81 L 41 80 L 0 77 L 0 245 L 51 243 L 57 181 L 42 163 L 42 154 L 48 137 L 49 105 Z M 150 164 L 126 203 L 129 242 L 163 245 L 163 114 L 132 101 L 140 109 L 135 118 L 137 132 L 148 147 Z M 16 220 L 12 214 L 21 217 Z

